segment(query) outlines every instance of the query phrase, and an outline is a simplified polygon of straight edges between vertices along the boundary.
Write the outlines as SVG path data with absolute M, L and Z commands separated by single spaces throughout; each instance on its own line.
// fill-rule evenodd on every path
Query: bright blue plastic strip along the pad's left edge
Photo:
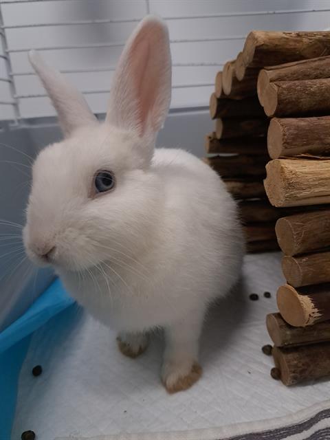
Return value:
M 32 333 L 73 303 L 56 279 L 23 316 L 0 333 L 0 440 L 10 439 L 19 372 Z

